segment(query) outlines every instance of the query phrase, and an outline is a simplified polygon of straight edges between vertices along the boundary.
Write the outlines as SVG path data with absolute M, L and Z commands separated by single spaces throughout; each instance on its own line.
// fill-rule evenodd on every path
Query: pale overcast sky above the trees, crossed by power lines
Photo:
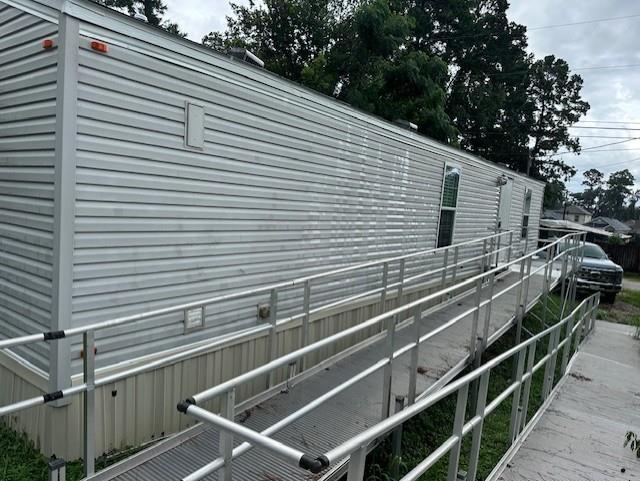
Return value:
M 212 31 L 223 29 L 225 16 L 230 14 L 226 0 L 166 0 L 167 17 L 178 22 L 191 40 L 200 41 Z M 238 3 L 247 3 L 238 0 Z M 528 27 L 529 48 L 538 57 L 554 54 L 569 62 L 570 67 L 584 78 L 583 98 L 591 110 L 580 122 L 583 127 L 609 129 L 573 129 L 580 136 L 582 147 L 588 149 L 602 144 L 621 142 L 640 137 L 640 2 L 630 0 L 511 0 L 512 20 Z M 573 22 L 611 17 L 633 18 L 585 23 L 556 28 L 539 28 Z M 582 70 L 612 65 L 638 67 Z M 592 122 L 598 121 L 598 123 Z M 604 124 L 603 121 L 630 122 Z M 631 122 L 637 122 L 633 124 Z M 622 128 L 639 129 L 621 130 Z M 587 137 L 590 136 L 590 137 Z M 597 138 L 593 136 L 602 136 Z M 619 138 L 604 138 L 619 137 Z M 565 155 L 564 160 L 578 169 L 569 182 L 571 191 L 582 189 L 582 172 L 597 168 L 605 174 L 628 168 L 640 186 L 640 140 L 624 142 L 600 149 L 585 150 L 579 156 Z M 615 149 L 615 150 L 611 150 Z M 637 150 L 633 150 L 637 149 Z

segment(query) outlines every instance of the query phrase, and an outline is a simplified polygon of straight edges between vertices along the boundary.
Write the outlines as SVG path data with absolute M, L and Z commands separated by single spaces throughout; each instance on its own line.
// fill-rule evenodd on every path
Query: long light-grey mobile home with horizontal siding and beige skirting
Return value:
M 498 228 L 513 230 L 522 252 L 536 244 L 543 190 L 92 2 L 0 0 L 0 339 Z M 350 286 L 328 286 L 318 301 Z M 282 312 L 299 295 L 283 299 Z M 208 309 L 199 329 L 173 312 L 102 331 L 98 368 L 113 372 L 255 325 L 260 301 Z M 223 362 L 225 352 L 207 359 Z M 0 404 L 78 382 L 82 355 L 68 339 L 0 352 Z M 118 407 L 145 392 L 167 398 L 208 368 L 180 369 L 105 389 L 99 450 L 180 427 L 152 412 L 131 426 Z M 12 422 L 48 453 L 55 441 L 45 424 L 69 426 L 69 446 L 57 449 L 77 456 L 77 410 L 60 404 Z

